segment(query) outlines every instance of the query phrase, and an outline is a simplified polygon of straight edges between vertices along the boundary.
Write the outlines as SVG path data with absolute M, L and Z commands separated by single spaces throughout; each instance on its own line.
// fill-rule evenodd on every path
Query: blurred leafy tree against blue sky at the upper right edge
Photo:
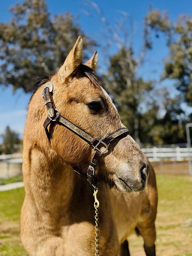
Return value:
M 145 17 L 146 29 L 164 33 L 167 38 L 169 55 L 164 61 L 162 79 L 174 79 L 183 100 L 192 106 L 192 19 L 181 15 L 173 23 L 165 12 L 150 9 Z M 149 34 L 148 34 L 149 35 Z M 149 41 L 150 38 L 148 38 Z M 151 43 L 152 44 L 152 43 Z

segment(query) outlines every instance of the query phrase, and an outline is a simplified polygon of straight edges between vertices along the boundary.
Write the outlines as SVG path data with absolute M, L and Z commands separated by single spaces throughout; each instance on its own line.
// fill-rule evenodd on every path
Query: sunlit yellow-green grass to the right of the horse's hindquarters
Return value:
M 159 255 L 192 256 L 192 227 L 183 227 L 192 218 L 192 177 L 157 175 L 157 188 L 157 252 L 160 249 Z

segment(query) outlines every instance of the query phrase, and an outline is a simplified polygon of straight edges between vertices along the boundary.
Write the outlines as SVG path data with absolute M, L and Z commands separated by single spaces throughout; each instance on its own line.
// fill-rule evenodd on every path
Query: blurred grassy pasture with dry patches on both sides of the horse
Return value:
M 192 256 L 192 177 L 157 175 L 157 256 Z M 0 192 L 0 256 L 27 256 L 20 242 L 24 188 Z M 131 256 L 144 256 L 142 239 L 129 238 Z

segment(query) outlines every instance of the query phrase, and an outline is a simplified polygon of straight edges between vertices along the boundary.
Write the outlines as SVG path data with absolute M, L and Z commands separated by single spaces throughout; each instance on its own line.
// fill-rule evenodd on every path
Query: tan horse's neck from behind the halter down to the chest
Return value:
M 43 128 L 44 116 L 47 113 L 42 100 L 39 89 L 39 93 L 35 94 L 30 102 L 25 126 L 23 140 L 25 201 L 29 207 L 36 205 L 35 208 L 42 216 L 45 215 L 45 209 L 49 209 L 50 214 L 55 216 L 57 212 L 58 215 L 61 213 L 60 209 L 62 211 L 66 209 L 67 212 L 70 205 L 79 204 L 79 200 L 84 202 L 88 195 L 92 199 L 92 187 L 50 147 Z

